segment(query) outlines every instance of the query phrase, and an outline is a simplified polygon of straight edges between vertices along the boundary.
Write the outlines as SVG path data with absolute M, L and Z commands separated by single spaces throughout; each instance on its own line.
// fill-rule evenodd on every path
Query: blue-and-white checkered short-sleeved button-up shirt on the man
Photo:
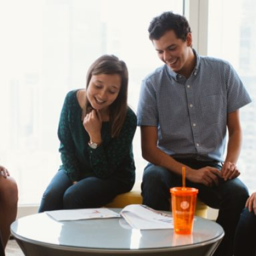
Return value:
M 222 162 L 227 114 L 251 98 L 227 61 L 194 53 L 189 79 L 166 65 L 144 79 L 137 124 L 158 127 L 158 147 L 169 155 Z

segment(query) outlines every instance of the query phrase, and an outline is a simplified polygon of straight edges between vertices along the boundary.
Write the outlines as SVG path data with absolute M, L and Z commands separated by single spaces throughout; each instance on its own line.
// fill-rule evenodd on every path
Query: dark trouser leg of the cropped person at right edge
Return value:
M 256 215 L 243 209 L 235 233 L 235 256 L 256 255 Z

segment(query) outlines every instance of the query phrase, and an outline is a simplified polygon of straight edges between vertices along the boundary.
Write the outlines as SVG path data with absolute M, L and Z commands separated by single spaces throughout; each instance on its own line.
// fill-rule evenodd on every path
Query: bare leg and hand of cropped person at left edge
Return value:
M 18 187 L 10 172 L 0 165 L 0 232 L 5 249 L 10 238 L 10 226 L 17 217 Z

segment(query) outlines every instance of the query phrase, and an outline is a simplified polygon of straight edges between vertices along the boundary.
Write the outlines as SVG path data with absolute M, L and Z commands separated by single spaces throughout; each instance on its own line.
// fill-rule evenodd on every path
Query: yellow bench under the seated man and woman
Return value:
M 170 195 L 171 196 L 171 195 Z M 127 205 L 142 204 L 141 190 L 138 184 L 135 184 L 134 188 L 127 193 L 118 195 L 113 199 L 112 202 L 107 203 L 107 208 L 124 208 Z M 195 215 L 199 217 L 207 217 L 208 206 L 201 202 L 199 199 L 196 200 L 196 212 Z

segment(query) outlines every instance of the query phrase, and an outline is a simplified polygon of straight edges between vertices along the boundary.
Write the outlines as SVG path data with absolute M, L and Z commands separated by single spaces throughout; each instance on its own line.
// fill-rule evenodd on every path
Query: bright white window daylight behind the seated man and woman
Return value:
M 255 5 L 253 0 L 210 0 L 208 33 L 208 54 L 229 60 L 254 100 Z M 20 205 L 38 204 L 57 171 L 57 125 L 64 96 L 85 87 L 95 58 L 107 53 L 126 61 L 129 104 L 136 111 L 141 79 L 162 64 L 147 27 L 166 10 L 182 14 L 183 1 L 0 0 L 0 164 L 18 182 Z M 254 109 L 252 103 L 241 112 L 239 162 L 251 190 L 256 190 Z M 139 181 L 146 165 L 139 129 L 134 155 Z

